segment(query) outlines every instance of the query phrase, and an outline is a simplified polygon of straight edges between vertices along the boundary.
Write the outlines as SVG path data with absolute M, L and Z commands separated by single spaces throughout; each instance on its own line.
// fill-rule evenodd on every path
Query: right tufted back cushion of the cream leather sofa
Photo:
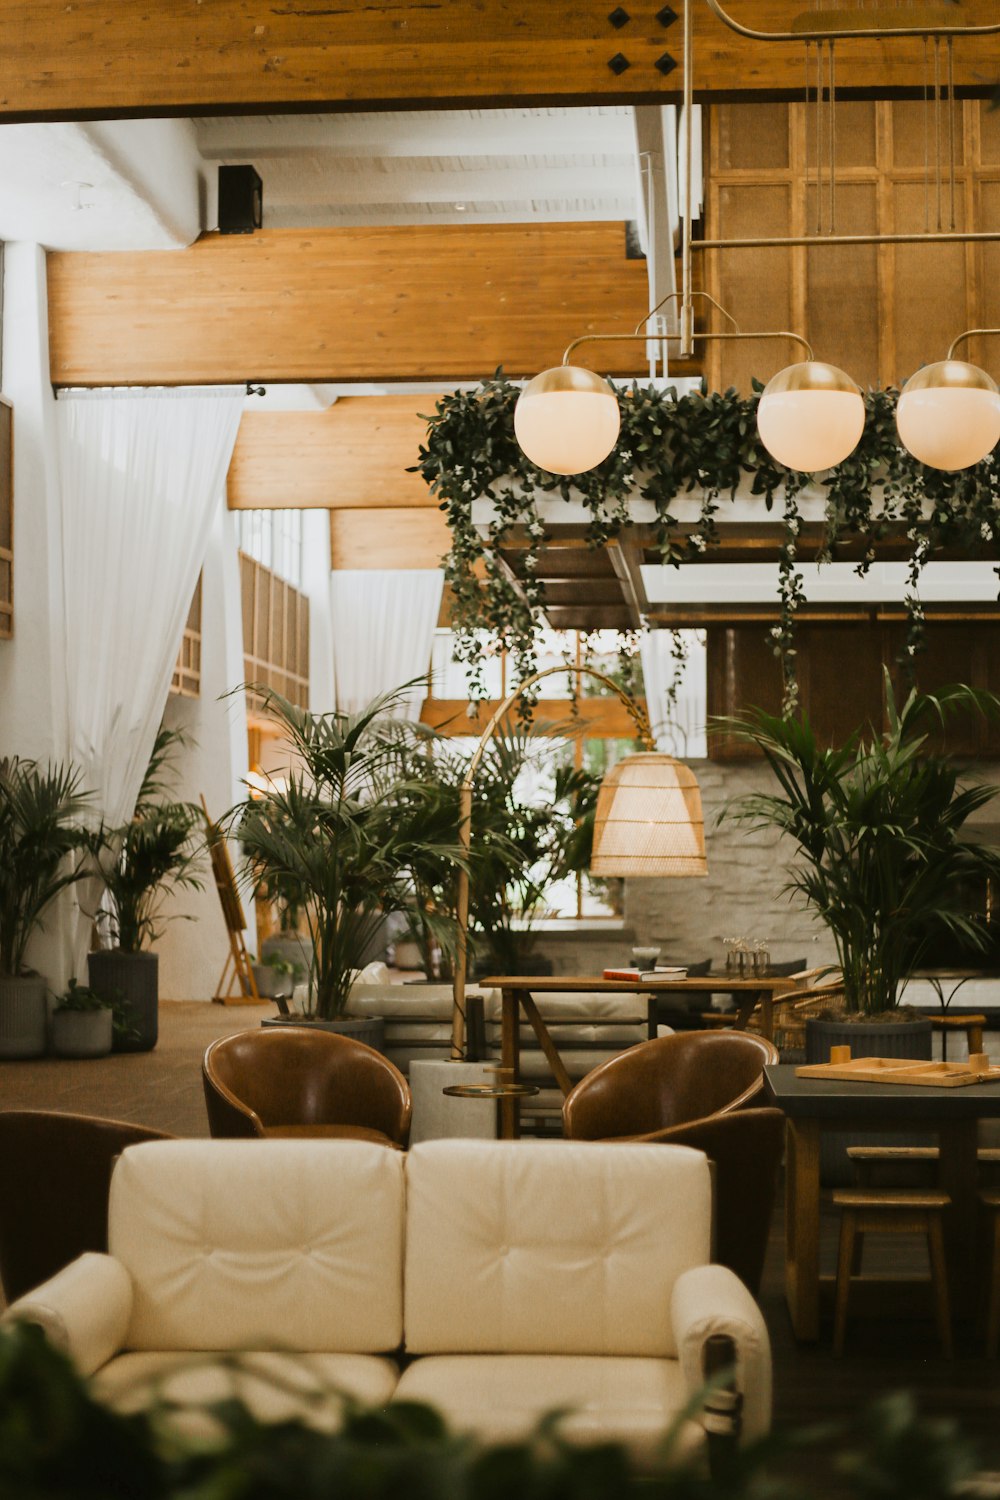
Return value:
M 411 1353 L 676 1354 L 673 1284 L 709 1258 L 702 1152 L 426 1142 L 406 1197 Z

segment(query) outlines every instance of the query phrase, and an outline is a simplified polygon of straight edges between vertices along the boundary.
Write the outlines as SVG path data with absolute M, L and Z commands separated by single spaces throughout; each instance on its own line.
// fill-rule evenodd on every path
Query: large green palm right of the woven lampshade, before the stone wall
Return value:
M 928 957 L 942 932 L 982 950 L 985 918 L 963 906 L 970 878 L 1000 878 L 1000 855 L 964 842 L 961 831 L 997 788 L 961 786 L 955 762 L 928 748 L 928 732 L 957 710 L 997 716 L 1000 700 L 957 684 L 912 692 L 897 711 L 885 675 L 886 732 L 856 730 L 846 746 L 822 750 L 805 716 L 775 718 L 762 710 L 720 726 L 754 744 L 780 790 L 739 798 L 730 812 L 754 828 L 780 828 L 801 862 L 786 890 L 826 922 L 844 970 L 846 1008 L 892 1010 L 907 974 Z

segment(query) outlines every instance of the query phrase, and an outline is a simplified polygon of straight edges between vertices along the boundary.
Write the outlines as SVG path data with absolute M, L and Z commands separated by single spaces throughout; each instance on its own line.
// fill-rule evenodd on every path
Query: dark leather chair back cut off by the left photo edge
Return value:
M 0 1281 L 7 1302 L 84 1251 L 108 1250 L 115 1158 L 163 1131 L 52 1110 L 0 1110 Z

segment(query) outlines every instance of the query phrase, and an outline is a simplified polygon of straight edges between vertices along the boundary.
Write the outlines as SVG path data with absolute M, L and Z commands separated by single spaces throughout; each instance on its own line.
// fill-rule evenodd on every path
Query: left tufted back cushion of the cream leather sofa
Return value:
M 126 1348 L 393 1350 L 403 1158 L 360 1142 L 135 1146 L 111 1179 L 108 1248 L 132 1276 Z

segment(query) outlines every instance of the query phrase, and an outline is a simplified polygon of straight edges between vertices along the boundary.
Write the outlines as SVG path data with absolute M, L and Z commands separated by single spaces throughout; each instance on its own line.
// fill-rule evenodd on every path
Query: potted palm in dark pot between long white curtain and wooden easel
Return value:
M 168 892 L 201 890 L 202 813 L 169 798 L 168 772 L 177 729 L 160 726 L 135 813 L 121 828 L 100 828 L 91 852 L 109 903 L 112 945 L 88 954 L 90 987 L 121 1000 L 115 1052 L 150 1052 L 159 1035 L 159 962 L 150 945 L 163 927 Z

